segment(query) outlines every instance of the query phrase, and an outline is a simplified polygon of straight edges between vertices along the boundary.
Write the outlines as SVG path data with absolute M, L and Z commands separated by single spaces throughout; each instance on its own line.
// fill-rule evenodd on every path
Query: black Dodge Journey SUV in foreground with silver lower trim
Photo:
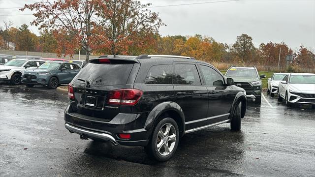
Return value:
M 66 129 L 81 139 L 143 146 L 158 161 L 171 158 L 186 133 L 226 122 L 240 130 L 247 107 L 233 79 L 181 56 L 90 59 L 68 88 Z

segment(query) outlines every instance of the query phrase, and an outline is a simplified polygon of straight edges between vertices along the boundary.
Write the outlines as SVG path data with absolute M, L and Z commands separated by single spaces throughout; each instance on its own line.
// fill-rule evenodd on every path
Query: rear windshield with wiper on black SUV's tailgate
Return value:
M 89 81 L 91 85 L 122 85 L 126 84 L 134 63 L 110 62 L 89 63 L 77 75 L 77 79 Z M 76 82 L 81 83 L 76 79 Z

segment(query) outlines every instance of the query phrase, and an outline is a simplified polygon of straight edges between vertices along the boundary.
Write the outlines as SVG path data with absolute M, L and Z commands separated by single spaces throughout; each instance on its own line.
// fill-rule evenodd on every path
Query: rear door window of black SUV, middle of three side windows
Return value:
M 201 85 L 196 65 L 175 64 L 174 84 Z

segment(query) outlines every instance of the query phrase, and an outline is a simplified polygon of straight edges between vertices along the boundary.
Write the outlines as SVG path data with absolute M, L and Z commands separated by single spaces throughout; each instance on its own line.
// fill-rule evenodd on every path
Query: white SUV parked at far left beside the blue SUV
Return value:
M 12 59 L 0 65 L 0 81 L 19 85 L 26 68 L 36 68 L 45 62 L 40 59 Z

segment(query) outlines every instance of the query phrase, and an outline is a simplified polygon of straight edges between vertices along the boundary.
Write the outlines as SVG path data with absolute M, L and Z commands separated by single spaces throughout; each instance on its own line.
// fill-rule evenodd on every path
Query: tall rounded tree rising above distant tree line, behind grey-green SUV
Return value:
M 242 62 L 250 61 L 252 59 L 253 52 L 255 51 L 255 47 L 252 43 L 252 37 L 247 34 L 237 36 L 232 50 Z

